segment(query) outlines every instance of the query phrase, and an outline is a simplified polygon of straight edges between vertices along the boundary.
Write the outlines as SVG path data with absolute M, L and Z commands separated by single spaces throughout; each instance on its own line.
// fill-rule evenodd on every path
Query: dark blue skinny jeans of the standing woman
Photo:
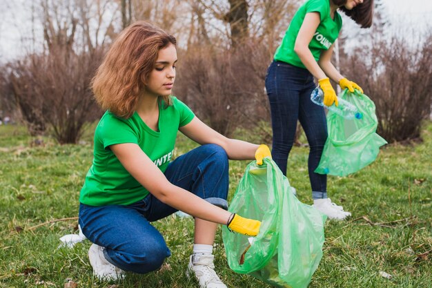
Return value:
M 266 90 L 273 128 L 272 157 L 286 175 L 286 162 L 293 147 L 297 119 L 309 143 L 308 171 L 313 192 L 326 192 L 327 176 L 315 173 L 327 139 L 324 108 L 311 101 L 313 75 L 304 68 L 273 61 L 266 75 Z M 315 194 L 315 193 L 313 193 Z

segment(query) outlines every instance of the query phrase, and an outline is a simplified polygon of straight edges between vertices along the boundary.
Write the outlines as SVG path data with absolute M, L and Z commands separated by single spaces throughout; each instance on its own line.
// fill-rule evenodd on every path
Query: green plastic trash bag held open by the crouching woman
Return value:
M 273 160 L 246 167 L 229 211 L 262 221 L 248 236 L 222 230 L 228 265 L 275 287 L 307 287 L 322 258 L 326 216 L 303 204 Z

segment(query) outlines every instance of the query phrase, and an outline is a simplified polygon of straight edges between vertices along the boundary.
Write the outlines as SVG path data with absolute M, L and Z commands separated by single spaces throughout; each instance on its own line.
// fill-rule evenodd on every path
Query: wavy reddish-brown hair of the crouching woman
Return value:
M 101 108 L 117 117 L 131 117 L 159 50 L 169 44 L 176 46 L 175 37 L 146 21 L 137 21 L 124 29 L 92 79 L 91 88 Z M 162 98 L 166 105 L 171 105 L 170 96 Z

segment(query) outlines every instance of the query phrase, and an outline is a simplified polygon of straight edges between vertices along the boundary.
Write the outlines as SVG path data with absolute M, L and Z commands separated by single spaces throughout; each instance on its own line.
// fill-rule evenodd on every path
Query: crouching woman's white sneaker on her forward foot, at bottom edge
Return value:
M 219 279 L 213 264 L 213 254 L 191 255 L 189 258 L 188 271 L 186 275 L 194 273 L 199 282 L 199 288 L 227 288 L 224 282 Z

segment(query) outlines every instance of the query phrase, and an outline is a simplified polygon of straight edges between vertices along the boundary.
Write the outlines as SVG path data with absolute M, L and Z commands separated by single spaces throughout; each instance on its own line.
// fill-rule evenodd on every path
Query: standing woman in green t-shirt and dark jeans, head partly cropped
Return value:
M 324 92 L 326 106 L 333 102 L 337 105 L 329 78 L 339 83 L 342 89 L 362 91 L 360 86 L 340 75 L 331 63 L 334 43 L 342 28 L 342 18 L 337 9 L 362 28 L 369 28 L 372 24 L 373 0 L 306 1 L 295 13 L 282 44 L 275 52 L 266 76 L 266 90 L 271 107 L 273 160 L 286 174 L 286 162 L 299 119 L 310 146 L 308 172 L 313 206 L 330 219 L 344 220 L 351 213 L 327 198 L 327 176 L 314 172 L 327 139 L 327 124 L 324 108 L 311 101 L 314 77 Z

